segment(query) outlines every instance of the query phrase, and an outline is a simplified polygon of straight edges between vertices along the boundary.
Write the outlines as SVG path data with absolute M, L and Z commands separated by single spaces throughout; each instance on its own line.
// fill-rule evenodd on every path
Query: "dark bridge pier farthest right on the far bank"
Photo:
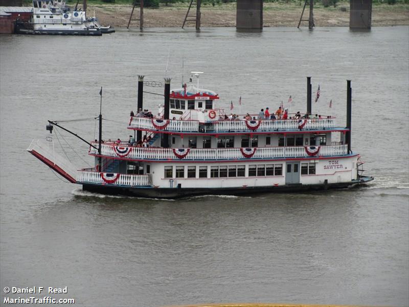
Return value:
M 372 0 L 350 0 L 349 27 L 371 29 Z

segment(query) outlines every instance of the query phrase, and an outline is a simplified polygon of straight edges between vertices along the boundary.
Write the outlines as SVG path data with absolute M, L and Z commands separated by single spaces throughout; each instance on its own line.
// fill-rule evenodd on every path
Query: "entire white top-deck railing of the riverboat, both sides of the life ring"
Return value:
M 147 117 L 132 117 L 130 127 L 160 130 L 153 126 L 150 118 Z M 299 121 L 297 119 L 266 119 L 261 120 L 256 131 L 277 130 L 277 129 L 298 129 Z M 334 128 L 334 118 L 323 119 L 307 119 L 304 125 L 305 129 L 323 129 Z M 165 131 L 182 131 L 182 132 L 198 132 L 199 121 L 197 120 L 169 120 L 169 124 L 162 130 Z M 207 128 L 207 131 L 252 131 L 249 129 L 244 120 L 220 120 L 213 122 L 213 127 Z

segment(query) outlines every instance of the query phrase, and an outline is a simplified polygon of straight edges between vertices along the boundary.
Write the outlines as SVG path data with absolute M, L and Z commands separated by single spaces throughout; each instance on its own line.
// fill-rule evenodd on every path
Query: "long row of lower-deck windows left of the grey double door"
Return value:
M 199 166 L 198 177 L 208 178 L 208 166 Z M 175 166 L 175 178 L 185 178 L 185 166 Z M 245 177 L 245 165 L 210 166 L 210 178 Z M 196 178 L 196 166 L 187 167 L 187 178 Z M 248 166 L 248 177 L 282 176 L 283 164 L 254 164 Z M 173 178 L 173 166 L 165 166 L 165 178 Z

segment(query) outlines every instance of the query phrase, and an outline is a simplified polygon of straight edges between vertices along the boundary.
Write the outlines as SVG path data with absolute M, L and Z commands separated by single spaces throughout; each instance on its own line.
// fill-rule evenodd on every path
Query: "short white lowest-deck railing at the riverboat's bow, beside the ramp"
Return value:
M 77 181 L 80 183 L 106 184 L 101 177 L 101 173 L 96 171 L 78 170 Z M 150 186 L 151 179 L 150 175 L 120 174 L 118 180 L 114 183 L 110 183 L 109 185 Z

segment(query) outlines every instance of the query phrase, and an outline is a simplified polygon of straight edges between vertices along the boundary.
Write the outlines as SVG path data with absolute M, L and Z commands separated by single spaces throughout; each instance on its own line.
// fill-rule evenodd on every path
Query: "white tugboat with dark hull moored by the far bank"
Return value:
M 85 11 L 71 10 L 64 0 L 33 0 L 33 16 L 29 23 L 16 20 L 15 32 L 19 34 L 92 35 L 112 33 L 111 27 L 102 27 L 95 17 L 86 17 Z

